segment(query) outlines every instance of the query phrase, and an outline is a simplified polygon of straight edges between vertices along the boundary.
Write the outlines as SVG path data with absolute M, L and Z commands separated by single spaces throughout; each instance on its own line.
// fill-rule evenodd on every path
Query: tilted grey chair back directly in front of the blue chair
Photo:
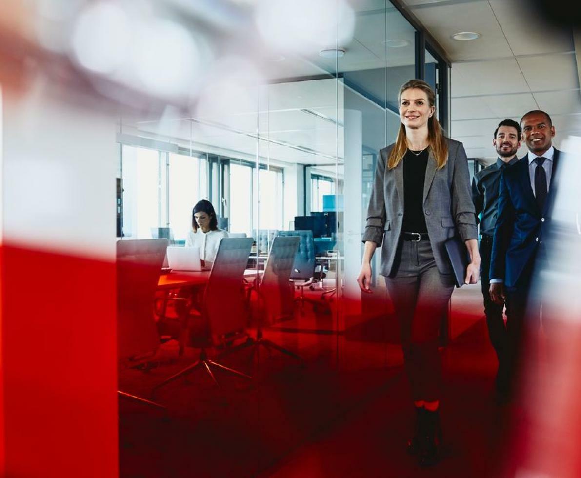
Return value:
M 272 240 L 270 254 L 260 282 L 266 318 L 273 321 L 293 314 L 294 291 L 289 282 L 299 247 L 299 236 L 278 236 Z

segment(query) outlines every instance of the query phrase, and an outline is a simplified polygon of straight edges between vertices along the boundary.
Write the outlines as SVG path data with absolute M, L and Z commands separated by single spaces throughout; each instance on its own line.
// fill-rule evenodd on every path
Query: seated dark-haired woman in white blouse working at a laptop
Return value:
M 210 201 L 202 199 L 193 207 L 192 231 L 188 233 L 185 246 L 197 246 L 200 249 L 200 259 L 205 268 L 211 267 L 222 238 L 227 238 L 228 232 L 218 229 L 216 211 Z

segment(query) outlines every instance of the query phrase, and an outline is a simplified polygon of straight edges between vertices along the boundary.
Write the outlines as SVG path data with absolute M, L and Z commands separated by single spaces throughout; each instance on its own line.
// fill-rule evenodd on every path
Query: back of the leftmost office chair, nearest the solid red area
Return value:
M 159 347 L 153 318 L 157 281 L 167 239 L 117 241 L 117 357 L 144 355 Z

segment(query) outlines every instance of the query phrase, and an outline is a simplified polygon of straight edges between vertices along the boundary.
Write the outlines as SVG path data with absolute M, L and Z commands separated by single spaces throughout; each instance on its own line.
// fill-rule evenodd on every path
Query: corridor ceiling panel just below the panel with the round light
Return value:
M 475 85 L 478 85 L 476 90 Z M 528 92 L 525 77 L 514 58 L 486 62 L 454 63 L 451 69 L 454 96 Z

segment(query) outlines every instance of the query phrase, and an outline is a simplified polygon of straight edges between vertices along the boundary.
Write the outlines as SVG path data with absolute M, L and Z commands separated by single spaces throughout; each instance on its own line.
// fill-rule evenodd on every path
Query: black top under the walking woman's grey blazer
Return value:
M 428 232 L 424 216 L 424 181 L 428 149 L 417 156 L 409 149 L 403 157 L 403 227 L 404 232 Z

